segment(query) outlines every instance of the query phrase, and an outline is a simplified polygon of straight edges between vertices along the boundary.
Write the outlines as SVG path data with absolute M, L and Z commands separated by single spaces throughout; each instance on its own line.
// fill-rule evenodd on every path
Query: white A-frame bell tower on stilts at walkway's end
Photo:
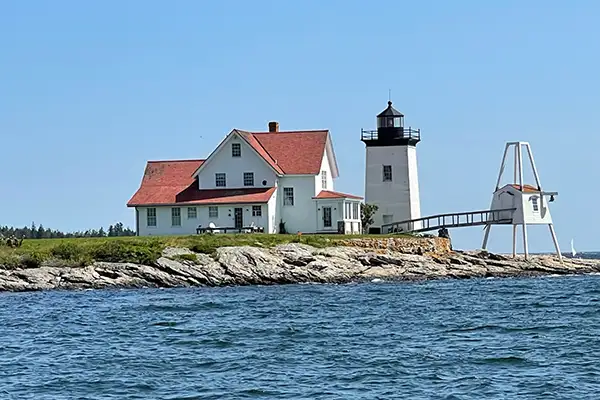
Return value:
M 514 169 L 512 183 L 500 186 L 502 175 L 506 167 L 507 158 L 510 158 L 511 148 L 514 149 Z M 523 181 L 523 150 L 527 152 L 529 165 L 535 180 L 535 184 L 528 185 Z M 510 164 L 509 164 L 510 165 Z M 535 162 L 533 161 L 533 153 L 527 142 L 509 142 L 504 148 L 502 156 L 502 164 L 500 164 L 500 174 L 496 182 L 496 189 L 492 197 L 492 206 L 490 210 L 498 210 L 501 219 L 505 221 L 512 220 L 513 227 L 513 257 L 517 253 L 517 226 L 523 227 L 523 252 L 525 258 L 529 256 L 529 244 L 527 242 L 527 225 L 548 225 L 550 236 L 554 242 L 558 258 L 562 261 L 560 248 L 556 239 L 552 216 L 550 215 L 550 203 L 554 201 L 554 197 L 558 192 L 546 192 L 542 190 L 542 184 L 538 175 Z M 546 199 L 548 197 L 548 199 Z M 503 222 L 504 223 L 504 222 Z M 509 222 L 510 223 L 510 222 Z M 485 227 L 482 248 L 485 250 L 490 236 L 490 230 L 493 223 L 489 223 Z

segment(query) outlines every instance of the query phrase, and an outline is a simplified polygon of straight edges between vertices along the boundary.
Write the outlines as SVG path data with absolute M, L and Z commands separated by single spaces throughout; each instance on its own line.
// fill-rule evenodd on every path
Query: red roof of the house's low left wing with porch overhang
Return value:
M 198 189 L 193 172 L 204 160 L 149 161 L 138 191 L 128 207 L 266 203 L 275 188 Z

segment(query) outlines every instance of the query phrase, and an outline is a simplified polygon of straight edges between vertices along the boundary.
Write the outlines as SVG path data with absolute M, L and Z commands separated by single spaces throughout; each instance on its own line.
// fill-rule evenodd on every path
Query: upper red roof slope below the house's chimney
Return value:
M 278 172 L 294 175 L 321 172 L 327 130 L 238 132 Z

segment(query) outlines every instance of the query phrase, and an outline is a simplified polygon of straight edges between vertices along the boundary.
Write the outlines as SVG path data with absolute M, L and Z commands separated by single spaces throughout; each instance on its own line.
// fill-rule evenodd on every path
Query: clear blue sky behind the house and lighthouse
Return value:
M 563 250 L 599 249 L 599 19 L 594 1 L 1 2 L 0 224 L 133 227 L 146 160 L 269 120 L 330 129 L 336 189 L 362 194 L 360 129 L 391 89 L 422 129 L 423 215 L 487 208 L 504 143 L 529 141 Z M 547 228 L 530 244 L 552 250 Z

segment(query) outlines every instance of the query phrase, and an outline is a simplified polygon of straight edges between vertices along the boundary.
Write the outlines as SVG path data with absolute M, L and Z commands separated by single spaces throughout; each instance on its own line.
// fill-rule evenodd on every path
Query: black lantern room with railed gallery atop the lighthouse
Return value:
M 376 131 L 361 131 L 361 140 L 367 146 L 414 146 L 421 140 L 421 131 L 404 127 L 404 114 L 388 106 L 377 115 Z

